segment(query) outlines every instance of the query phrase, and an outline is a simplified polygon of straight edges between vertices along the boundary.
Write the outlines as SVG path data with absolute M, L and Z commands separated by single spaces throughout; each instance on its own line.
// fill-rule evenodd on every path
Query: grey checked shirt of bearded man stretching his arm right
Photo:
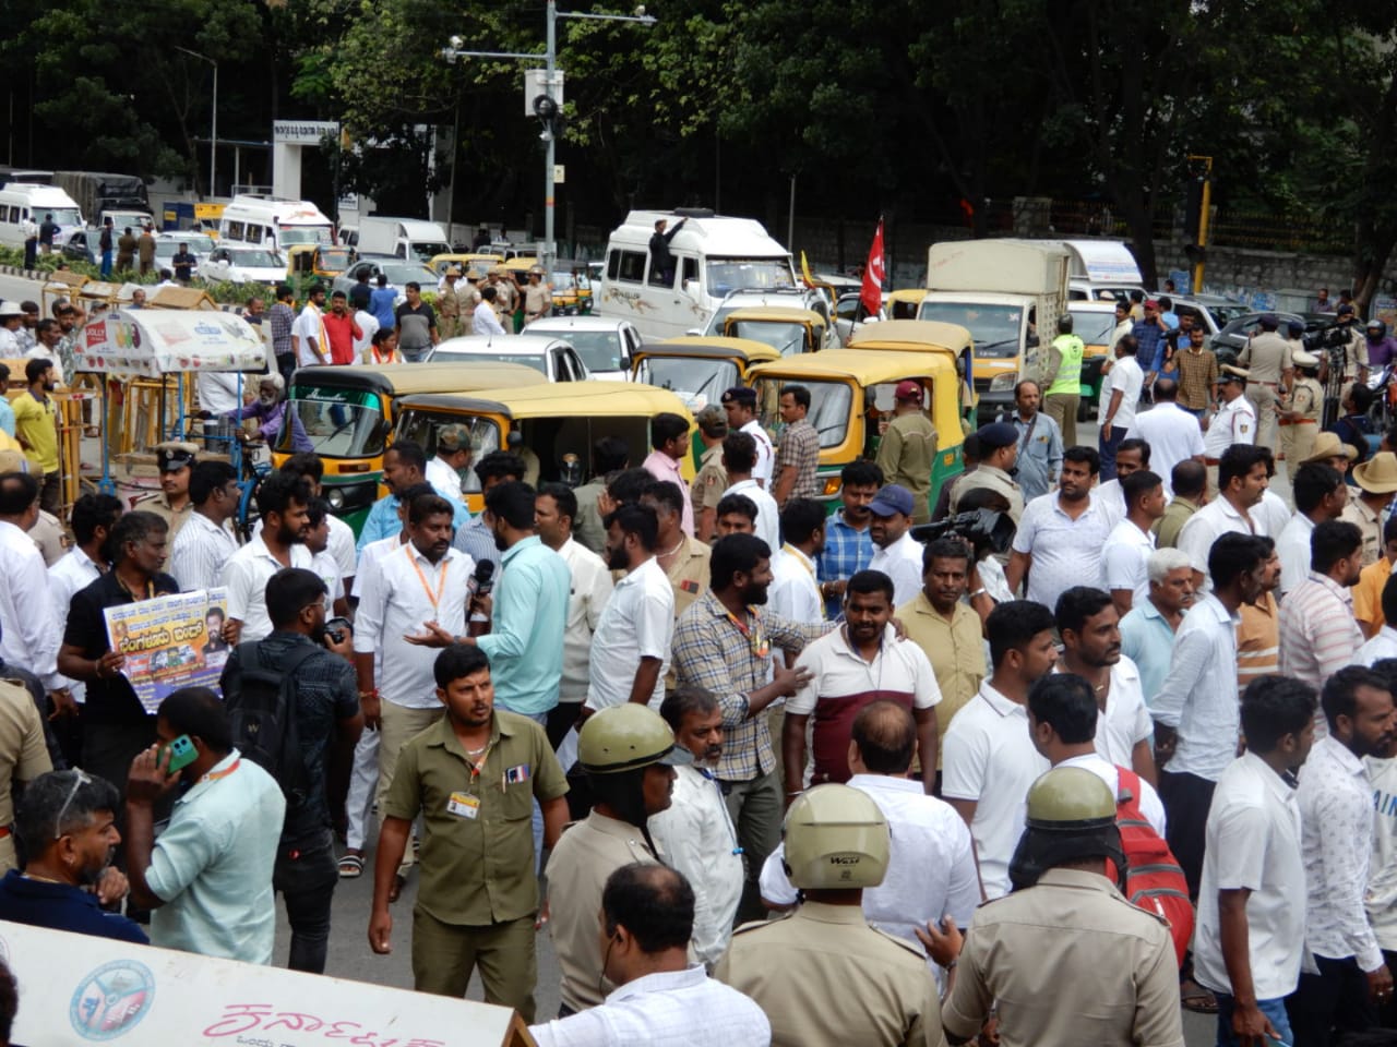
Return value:
M 747 782 L 775 769 L 766 711 L 747 715 L 747 694 L 771 680 L 771 651 L 799 653 L 834 628 L 834 623 L 805 625 L 754 607 L 747 609 L 746 618 L 750 638 L 742 635 L 718 597 L 707 592 L 675 627 L 675 677 L 680 685 L 711 691 L 722 708 L 726 737 L 717 775 L 725 782 Z M 763 638 L 766 653 L 753 649 Z

